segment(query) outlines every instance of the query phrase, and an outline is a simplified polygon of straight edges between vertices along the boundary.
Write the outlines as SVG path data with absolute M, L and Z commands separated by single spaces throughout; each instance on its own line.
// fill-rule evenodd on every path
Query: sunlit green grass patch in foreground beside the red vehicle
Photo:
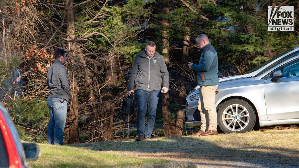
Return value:
M 104 143 L 105 144 L 105 143 Z M 88 146 L 88 143 L 82 144 Z M 101 143 L 97 143 L 101 145 Z M 42 155 L 29 162 L 31 167 L 132 167 L 144 164 L 164 164 L 166 159 L 146 159 L 115 155 L 112 151 L 97 151 L 84 147 L 40 144 Z

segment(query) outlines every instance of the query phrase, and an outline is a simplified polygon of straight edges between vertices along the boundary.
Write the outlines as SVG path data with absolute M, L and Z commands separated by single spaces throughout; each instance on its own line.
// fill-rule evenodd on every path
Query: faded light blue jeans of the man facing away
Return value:
M 61 103 L 60 98 L 51 97 L 47 99 L 49 108 L 49 123 L 48 123 L 48 144 L 62 145 L 63 144 L 63 130 L 66 120 L 66 104 L 64 100 Z

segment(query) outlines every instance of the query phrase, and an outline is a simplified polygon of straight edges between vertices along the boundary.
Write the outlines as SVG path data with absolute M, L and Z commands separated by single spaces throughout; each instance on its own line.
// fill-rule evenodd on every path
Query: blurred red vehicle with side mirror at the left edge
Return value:
M 26 168 L 39 155 L 36 143 L 21 143 L 9 113 L 0 105 L 0 167 Z

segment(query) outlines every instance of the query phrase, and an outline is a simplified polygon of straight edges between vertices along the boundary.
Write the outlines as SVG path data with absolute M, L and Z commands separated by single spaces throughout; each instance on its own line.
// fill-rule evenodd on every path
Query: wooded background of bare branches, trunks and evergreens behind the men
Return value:
M 268 31 L 268 6 L 286 5 L 294 6 L 294 31 Z M 43 142 L 46 73 L 62 48 L 71 89 L 67 143 L 127 137 L 121 102 L 135 55 L 151 40 L 170 76 L 161 136 L 180 136 L 185 99 L 196 86 L 186 64 L 199 61 L 196 37 L 209 36 L 219 77 L 246 73 L 298 46 L 298 9 L 291 0 L 0 0 L 1 102 L 22 138 Z

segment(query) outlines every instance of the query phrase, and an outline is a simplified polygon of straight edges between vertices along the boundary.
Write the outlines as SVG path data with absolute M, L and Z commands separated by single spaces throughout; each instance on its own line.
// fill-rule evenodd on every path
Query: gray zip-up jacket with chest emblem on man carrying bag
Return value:
M 127 91 L 143 89 L 146 91 L 160 90 L 163 86 L 169 88 L 169 77 L 164 57 L 157 51 L 149 59 L 145 50 L 137 54 L 131 69 Z

